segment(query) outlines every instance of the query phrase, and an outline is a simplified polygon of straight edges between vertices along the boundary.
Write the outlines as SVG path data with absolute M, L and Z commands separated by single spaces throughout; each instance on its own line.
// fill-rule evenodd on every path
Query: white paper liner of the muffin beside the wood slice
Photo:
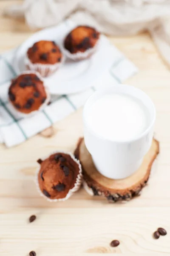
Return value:
M 67 195 L 65 196 L 65 198 L 59 198 L 59 199 L 50 199 L 48 197 L 46 197 L 41 189 L 40 189 L 40 186 L 39 186 L 39 182 L 38 182 L 38 174 L 39 174 L 39 171 L 40 171 L 40 168 L 41 166 L 39 166 L 36 170 L 36 179 L 35 179 L 35 183 L 36 183 L 36 186 L 37 186 L 37 190 L 40 194 L 40 196 L 44 197 L 47 201 L 49 202 L 59 202 L 59 201 L 65 201 L 67 200 L 68 198 L 71 197 L 71 195 L 73 195 L 75 192 L 77 192 L 80 188 L 80 186 L 82 185 L 82 166 L 79 162 L 79 160 L 77 160 L 73 154 L 71 154 L 70 152 L 65 152 L 65 151 L 53 151 L 51 152 L 50 154 L 48 154 L 47 156 L 45 157 L 41 157 L 42 161 L 47 159 L 48 157 L 50 157 L 52 154 L 57 154 L 57 153 L 61 153 L 61 154 L 68 154 L 73 160 L 74 162 L 76 162 L 79 166 L 79 174 L 77 175 L 77 179 L 76 179 L 76 182 L 74 184 L 74 187 L 72 189 L 70 189 L 67 193 Z

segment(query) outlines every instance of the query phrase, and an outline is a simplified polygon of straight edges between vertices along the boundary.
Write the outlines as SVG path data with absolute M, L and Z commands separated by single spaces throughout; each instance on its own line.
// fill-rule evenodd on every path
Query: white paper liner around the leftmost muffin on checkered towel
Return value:
M 35 75 L 38 76 L 38 78 L 44 83 L 44 80 L 43 80 L 42 76 L 40 75 L 40 73 L 38 73 L 38 72 L 36 72 L 36 71 L 27 70 L 27 71 L 24 71 L 24 72 L 20 73 L 20 75 L 18 75 L 18 76 L 26 75 L 26 74 L 35 74 Z M 18 76 L 17 76 L 17 77 L 18 77 Z M 17 79 L 17 77 L 15 77 L 15 79 Z M 34 111 L 32 111 L 31 113 L 22 113 L 22 112 L 18 111 L 16 108 L 14 108 L 14 106 L 13 106 L 12 103 L 11 103 L 11 101 L 9 100 L 9 104 L 10 104 L 10 106 L 11 106 L 11 109 L 12 109 L 15 113 L 17 113 L 18 118 L 19 118 L 19 117 L 30 117 L 30 116 L 34 116 L 36 113 L 38 113 L 39 111 L 43 110 L 43 109 L 46 107 L 46 105 L 47 105 L 48 102 L 50 101 L 50 93 L 49 93 L 49 91 L 48 91 L 48 87 L 45 86 L 45 84 L 44 84 L 44 88 L 45 88 L 45 93 L 46 93 L 46 95 L 47 95 L 47 98 L 45 99 L 45 102 L 40 106 L 40 108 L 39 108 L 38 110 L 34 110 Z

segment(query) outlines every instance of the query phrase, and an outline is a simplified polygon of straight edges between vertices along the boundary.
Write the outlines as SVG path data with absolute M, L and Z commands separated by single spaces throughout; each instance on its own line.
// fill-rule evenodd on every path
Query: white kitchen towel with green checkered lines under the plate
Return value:
M 137 72 L 134 64 L 113 47 L 113 63 L 102 79 L 94 82 L 93 87 L 82 93 L 52 96 L 51 104 L 43 111 L 29 118 L 18 118 L 8 103 L 8 87 L 11 79 L 17 75 L 12 65 L 15 52 L 16 49 L 13 49 L 0 55 L 0 143 L 5 143 L 7 147 L 23 143 L 69 115 L 84 105 L 95 90 L 109 83 L 117 85 Z

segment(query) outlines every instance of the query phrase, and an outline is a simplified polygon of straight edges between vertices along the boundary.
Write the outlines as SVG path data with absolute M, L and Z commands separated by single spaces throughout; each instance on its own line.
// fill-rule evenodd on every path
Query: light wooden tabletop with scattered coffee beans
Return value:
M 20 1 L 0 1 L 4 6 Z M 32 32 L 23 21 L 0 17 L 0 52 L 22 43 Z M 2 25 L 3 24 L 3 25 Z M 37 135 L 7 149 L 0 145 L 0 255 L 96 255 L 170 253 L 170 72 L 148 34 L 110 38 L 139 67 L 127 82 L 144 90 L 156 105 L 156 137 L 161 153 L 142 195 L 125 204 L 108 204 L 81 189 L 68 201 L 50 204 L 34 185 L 36 160 L 61 148 L 73 151 L 82 136 L 82 109 L 58 122 L 52 138 Z M 28 224 L 30 215 L 37 220 Z M 152 238 L 157 227 L 168 235 Z M 119 239 L 120 245 L 109 243 Z

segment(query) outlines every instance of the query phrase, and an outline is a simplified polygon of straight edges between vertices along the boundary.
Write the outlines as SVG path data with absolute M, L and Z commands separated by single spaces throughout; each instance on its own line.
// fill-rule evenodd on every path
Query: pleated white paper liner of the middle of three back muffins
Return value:
M 41 76 L 47 77 L 52 75 L 54 72 L 57 71 L 59 67 L 63 65 L 65 61 L 64 56 L 62 55 L 62 60 L 59 63 L 56 64 L 40 64 L 40 63 L 32 63 L 28 56 L 26 55 L 25 58 L 25 65 L 28 68 L 28 70 L 34 70 L 40 73 Z

